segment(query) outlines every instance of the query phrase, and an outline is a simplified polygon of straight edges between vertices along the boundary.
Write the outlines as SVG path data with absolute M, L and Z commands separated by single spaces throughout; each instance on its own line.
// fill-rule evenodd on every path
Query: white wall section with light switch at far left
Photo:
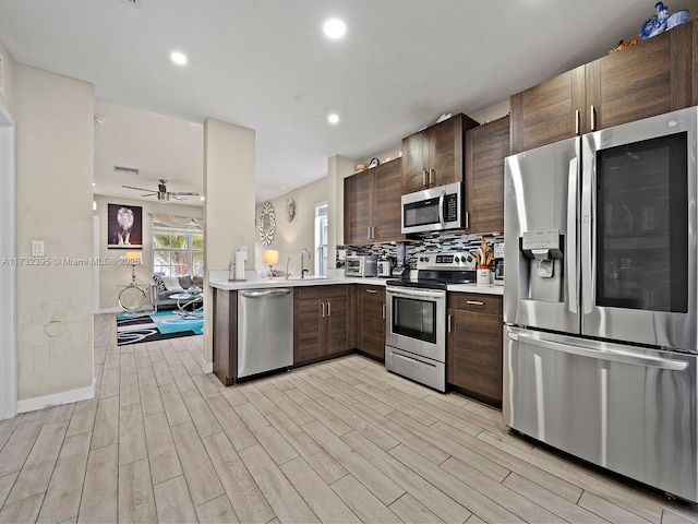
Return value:
M 51 261 L 17 267 L 22 404 L 93 386 L 92 269 L 60 260 L 92 255 L 94 110 L 92 84 L 22 64 L 14 74 L 16 254 L 41 240 Z

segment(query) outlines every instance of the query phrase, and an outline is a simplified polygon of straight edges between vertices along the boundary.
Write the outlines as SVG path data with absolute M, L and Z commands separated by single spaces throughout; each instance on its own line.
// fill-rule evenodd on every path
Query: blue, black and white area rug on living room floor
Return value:
M 177 311 L 157 313 L 117 314 L 117 345 L 201 335 L 204 319 L 198 315 L 180 315 Z

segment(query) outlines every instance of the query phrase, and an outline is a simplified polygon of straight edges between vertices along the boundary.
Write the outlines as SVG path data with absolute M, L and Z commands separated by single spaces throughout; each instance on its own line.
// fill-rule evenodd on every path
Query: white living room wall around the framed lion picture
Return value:
M 153 201 L 130 200 L 116 196 L 95 195 L 97 202 L 97 211 L 95 215 L 99 216 L 99 259 L 106 260 L 108 264 L 99 265 L 99 311 L 120 311 L 119 293 L 121 286 L 128 286 L 131 283 L 131 265 L 119 264 L 120 257 L 124 255 L 129 249 L 109 249 L 107 248 L 108 238 L 108 221 L 107 204 L 124 204 L 129 206 L 140 206 L 143 209 L 143 249 L 141 251 L 141 264 L 136 265 L 136 282 L 147 286 L 146 295 L 148 301 L 149 285 L 153 276 L 153 217 L 151 213 L 161 213 L 174 216 L 192 216 L 195 218 L 204 217 L 204 209 L 201 205 L 172 204 L 167 202 L 158 202 L 155 198 Z M 205 241 L 205 240 L 204 240 Z

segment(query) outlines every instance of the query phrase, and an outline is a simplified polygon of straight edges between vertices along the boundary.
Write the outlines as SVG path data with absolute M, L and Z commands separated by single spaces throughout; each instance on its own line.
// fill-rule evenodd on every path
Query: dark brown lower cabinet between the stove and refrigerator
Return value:
M 448 294 L 446 380 L 456 390 L 502 407 L 502 297 Z

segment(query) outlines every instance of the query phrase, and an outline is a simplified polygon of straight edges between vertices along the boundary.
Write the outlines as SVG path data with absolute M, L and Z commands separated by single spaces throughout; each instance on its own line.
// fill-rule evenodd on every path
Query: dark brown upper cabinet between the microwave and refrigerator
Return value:
M 508 155 L 508 116 L 466 131 L 469 235 L 504 233 L 504 158 Z

